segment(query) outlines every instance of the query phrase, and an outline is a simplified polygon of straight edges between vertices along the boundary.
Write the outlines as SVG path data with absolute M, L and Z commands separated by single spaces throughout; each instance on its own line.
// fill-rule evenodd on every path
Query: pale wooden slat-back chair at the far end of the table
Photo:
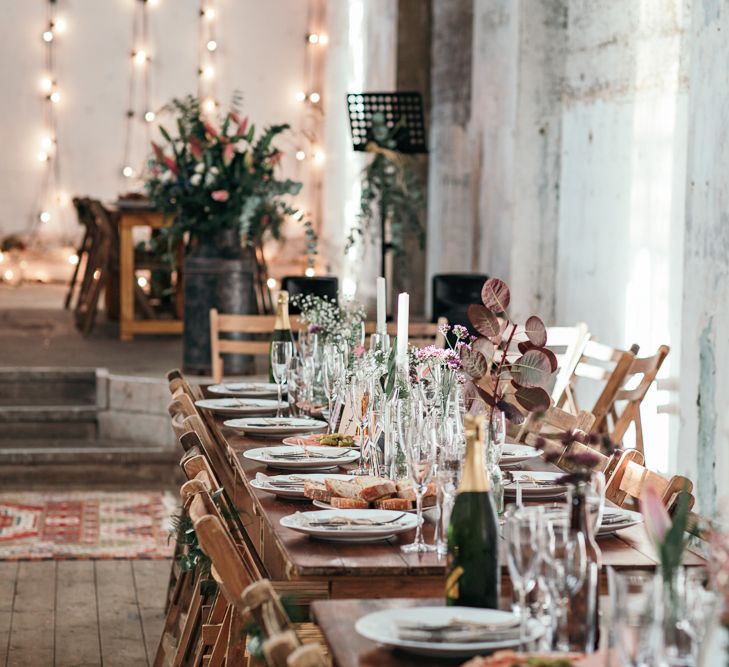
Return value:
M 213 382 L 223 381 L 223 354 L 267 356 L 276 318 L 273 315 L 224 315 L 210 309 L 210 354 Z M 300 318 L 292 315 L 291 326 L 298 327 Z M 259 340 L 231 340 L 220 334 L 258 336 Z M 266 340 L 261 340 L 265 337 Z

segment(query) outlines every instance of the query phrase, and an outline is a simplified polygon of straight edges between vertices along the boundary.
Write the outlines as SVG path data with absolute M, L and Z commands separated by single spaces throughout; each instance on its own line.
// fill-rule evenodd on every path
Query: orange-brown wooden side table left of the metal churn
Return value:
M 134 334 L 181 334 L 182 320 L 134 319 L 134 227 L 159 229 L 169 223 L 161 213 L 147 208 L 119 207 L 119 339 L 134 340 Z

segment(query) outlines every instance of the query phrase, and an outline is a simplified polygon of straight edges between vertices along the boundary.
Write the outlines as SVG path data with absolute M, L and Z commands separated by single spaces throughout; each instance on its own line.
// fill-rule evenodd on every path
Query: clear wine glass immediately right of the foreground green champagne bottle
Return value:
M 527 624 L 529 622 L 529 606 L 527 595 L 537 584 L 539 574 L 540 552 L 542 547 L 542 521 L 544 513 L 541 507 L 522 510 L 509 507 L 504 523 L 507 564 L 511 582 L 519 596 L 519 643 L 526 650 Z

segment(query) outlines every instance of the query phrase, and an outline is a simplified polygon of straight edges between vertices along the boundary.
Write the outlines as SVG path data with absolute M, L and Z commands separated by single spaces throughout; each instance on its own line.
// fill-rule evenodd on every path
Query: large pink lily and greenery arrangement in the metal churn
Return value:
M 160 126 L 164 144 L 152 143 L 146 186 L 155 207 L 174 216 L 173 236 L 237 229 L 256 246 L 269 236 L 280 239 L 293 216 L 303 221 L 309 255 L 315 253 L 311 223 L 286 199 L 299 193 L 301 183 L 276 176 L 282 153 L 273 141 L 288 125 L 272 125 L 257 136 L 235 108 L 214 118 L 201 113 L 193 96 L 174 99 L 167 110 L 177 116 L 177 131 Z

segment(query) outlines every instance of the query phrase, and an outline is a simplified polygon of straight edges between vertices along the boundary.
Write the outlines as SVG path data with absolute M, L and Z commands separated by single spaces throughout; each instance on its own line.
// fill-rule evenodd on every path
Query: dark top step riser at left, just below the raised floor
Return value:
M 0 406 L 96 405 L 96 370 L 0 368 Z

